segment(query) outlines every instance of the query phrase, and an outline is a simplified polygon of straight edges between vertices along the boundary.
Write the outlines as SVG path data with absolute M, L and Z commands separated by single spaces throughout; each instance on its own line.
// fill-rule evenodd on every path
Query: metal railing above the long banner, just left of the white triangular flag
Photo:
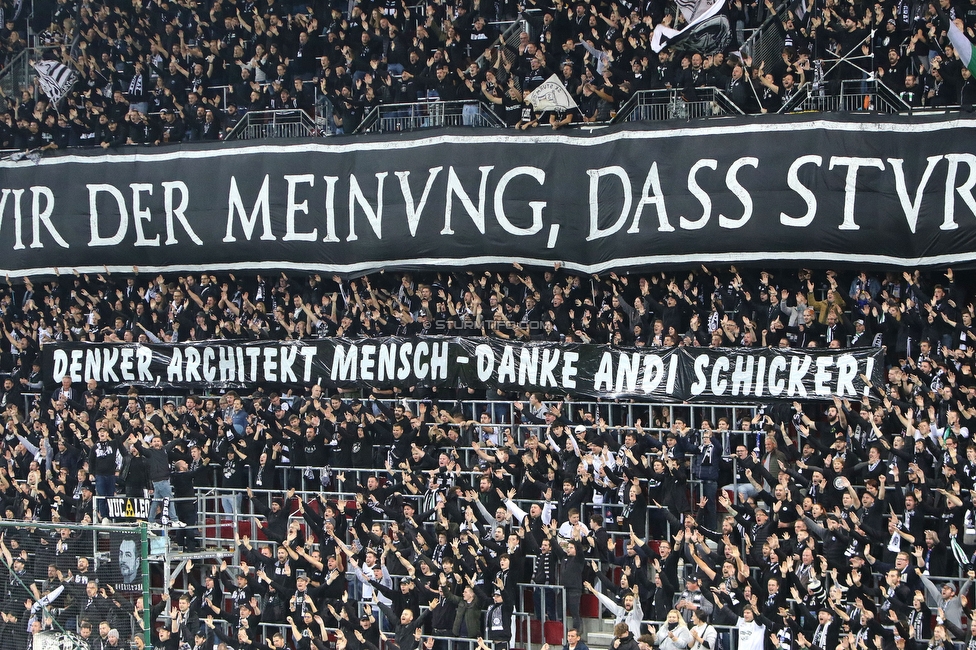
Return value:
M 480 101 L 433 100 L 375 106 L 354 133 L 394 133 L 448 126 L 504 128 L 505 123 Z

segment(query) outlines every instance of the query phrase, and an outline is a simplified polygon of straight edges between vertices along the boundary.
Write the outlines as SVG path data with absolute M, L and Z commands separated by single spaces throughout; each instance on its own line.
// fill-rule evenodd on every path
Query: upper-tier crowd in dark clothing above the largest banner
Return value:
M 491 109 L 525 127 L 539 121 L 525 96 L 553 73 L 579 105 L 554 116 L 554 128 L 608 121 L 645 89 L 680 89 L 690 98 L 695 88 L 717 86 L 746 113 L 772 113 L 804 81 L 836 93 L 842 80 L 867 73 L 912 107 L 971 106 L 976 98 L 946 36 L 958 19 L 976 37 L 971 3 L 727 1 L 731 39 L 708 56 L 653 52 L 653 28 L 684 20 L 656 0 L 37 0 L 33 13 L 5 3 L 0 58 L 43 48 L 34 50 L 39 58 L 63 63 L 79 79 L 60 110 L 35 88 L 5 98 L 0 147 L 219 140 L 247 111 L 267 109 L 329 115 L 322 132 L 348 134 L 374 106 L 434 97 L 481 102 L 485 108 L 472 114 Z M 739 47 L 772 12 L 782 21 L 782 58 L 753 65 Z M 492 24 L 516 16 L 528 32 L 500 42 Z

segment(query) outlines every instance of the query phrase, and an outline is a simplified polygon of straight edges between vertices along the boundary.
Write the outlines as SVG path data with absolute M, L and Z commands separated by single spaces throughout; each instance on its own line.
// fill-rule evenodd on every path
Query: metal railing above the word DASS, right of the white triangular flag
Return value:
M 677 88 L 636 92 L 620 107 L 612 123 L 742 115 L 742 109 L 714 86 L 695 88 L 695 97 L 691 101 L 686 101 L 682 94 L 683 91 Z

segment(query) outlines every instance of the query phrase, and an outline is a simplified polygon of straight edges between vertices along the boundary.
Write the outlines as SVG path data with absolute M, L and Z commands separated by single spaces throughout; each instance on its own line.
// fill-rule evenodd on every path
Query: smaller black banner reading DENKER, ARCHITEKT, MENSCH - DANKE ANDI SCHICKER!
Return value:
M 880 384 L 883 366 L 880 348 L 648 349 L 439 336 L 308 343 L 58 343 L 45 346 L 43 354 L 50 382 L 68 376 L 105 386 L 192 390 L 255 384 L 490 387 L 669 402 L 860 399 L 867 395 L 861 375 Z

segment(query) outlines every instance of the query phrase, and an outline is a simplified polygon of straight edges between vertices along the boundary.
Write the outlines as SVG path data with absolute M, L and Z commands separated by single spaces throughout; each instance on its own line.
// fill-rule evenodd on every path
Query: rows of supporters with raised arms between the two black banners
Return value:
M 638 347 L 884 346 L 886 363 L 901 378 L 897 397 L 911 399 L 918 385 L 968 376 L 974 337 L 973 310 L 952 269 L 944 277 L 918 271 L 740 273 L 734 266 L 585 276 L 558 265 L 539 270 L 516 264 L 343 279 L 285 273 L 146 277 L 134 268 L 125 275 L 8 279 L 0 290 L 0 315 L 9 343 L 0 349 L 0 372 L 11 373 L 0 405 L 43 388 L 39 351 L 52 341 L 451 335 Z M 437 389 L 377 394 L 431 397 Z M 447 394 L 486 397 L 475 387 Z

